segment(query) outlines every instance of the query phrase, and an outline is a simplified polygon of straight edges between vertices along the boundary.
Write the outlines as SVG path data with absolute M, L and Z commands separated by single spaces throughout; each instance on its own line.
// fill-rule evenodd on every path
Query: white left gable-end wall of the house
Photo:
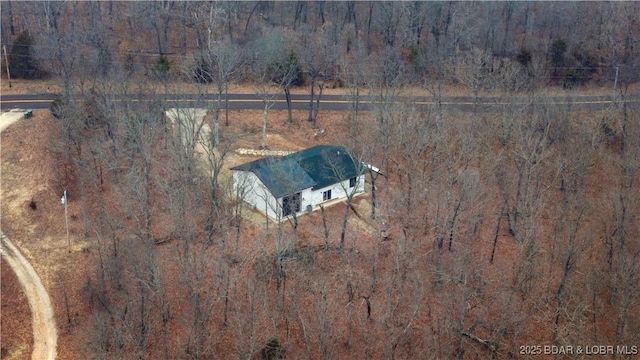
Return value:
M 278 220 L 282 216 L 282 199 L 275 199 L 267 187 L 250 171 L 231 171 L 233 174 L 233 192 L 261 213 Z

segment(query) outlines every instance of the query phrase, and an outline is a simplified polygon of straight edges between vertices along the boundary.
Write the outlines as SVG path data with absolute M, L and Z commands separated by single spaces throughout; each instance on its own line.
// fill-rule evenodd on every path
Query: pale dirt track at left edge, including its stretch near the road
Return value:
M 15 113 L 2 114 L 0 132 L 21 118 L 22 116 Z M 55 359 L 58 331 L 47 290 L 42 285 L 42 281 L 33 266 L 22 256 L 9 238 L 1 232 L 0 253 L 2 258 L 13 269 L 29 301 L 33 324 L 33 353 L 31 358 L 33 360 Z

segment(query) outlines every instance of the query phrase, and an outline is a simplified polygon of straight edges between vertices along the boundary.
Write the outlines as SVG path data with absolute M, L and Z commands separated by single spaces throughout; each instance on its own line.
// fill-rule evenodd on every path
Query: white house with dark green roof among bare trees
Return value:
M 345 148 L 328 145 L 231 168 L 236 196 L 276 221 L 364 192 L 366 170 Z

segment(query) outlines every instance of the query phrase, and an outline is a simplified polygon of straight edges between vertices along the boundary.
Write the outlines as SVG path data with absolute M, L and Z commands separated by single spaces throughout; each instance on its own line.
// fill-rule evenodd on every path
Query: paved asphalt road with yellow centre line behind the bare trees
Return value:
M 115 95 L 116 99 L 124 98 L 123 95 Z M 131 99 L 131 95 L 127 95 Z M 0 109 L 46 109 L 49 108 L 51 102 L 55 99 L 54 94 L 35 94 L 35 95 L 0 95 Z M 166 96 L 134 96 L 133 101 L 145 101 L 152 99 L 164 99 L 169 103 L 175 104 L 175 107 L 211 107 L 213 106 L 216 95 L 198 95 L 198 94 L 173 94 Z M 272 109 L 286 109 L 284 95 L 279 94 L 275 98 L 275 104 Z M 374 97 L 361 96 L 360 108 L 368 109 L 371 102 L 375 102 Z M 412 98 L 418 106 L 433 106 L 435 101 L 431 97 L 414 97 Z M 610 107 L 613 103 L 611 96 L 555 96 L 541 97 L 540 103 L 564 105 L 570 109 L 580 110 L 600 110 Z M 637 98 L 630 100 L 638 102 Z M 459 109 L 462 111 L 495 111 L 505 106 L 522 106 L 526 103 L 526 98 L 514 97 L 510 102 L 499 97 L 481 97 L 478 103 L 474 105 L 471 97 L 445 97 L 441 100 L 441 104 L 445 108 Z M 294 109 L 309 109 L 309 95 L 292 95 L 292 104 Z M 174 105 L 172 105 L 174 107 Z M 320 100 L 321 110 L 348 110 L 350 107 L 349 97 L 346 95 L 323 95 Z M 229 94 L 230 109 L 262 109 L 262 100 L 254 94 Z

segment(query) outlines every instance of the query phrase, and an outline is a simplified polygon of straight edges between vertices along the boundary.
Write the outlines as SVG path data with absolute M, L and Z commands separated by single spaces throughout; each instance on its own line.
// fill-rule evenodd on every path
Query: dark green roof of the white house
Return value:
M 320 189 L 363 173 L 342 146 L 319 145 L 282 158 L 267 157 L 231 170 L 251 171 L 273 196 Z

